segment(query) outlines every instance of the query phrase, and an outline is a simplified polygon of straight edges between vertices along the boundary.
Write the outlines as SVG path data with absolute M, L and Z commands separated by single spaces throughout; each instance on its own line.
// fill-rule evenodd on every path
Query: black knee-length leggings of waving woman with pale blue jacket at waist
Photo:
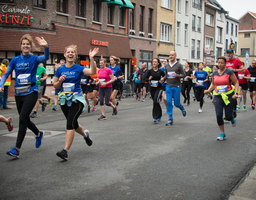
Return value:
M 77 129 L 79 126 L 77 119 L 83 111 L 83 103 L 76 101 L 76 103 L 73 102 L 71 106 L 65 103 L 65 105 L 60 106 L 60 108 L 67 119 L 67 130 Z

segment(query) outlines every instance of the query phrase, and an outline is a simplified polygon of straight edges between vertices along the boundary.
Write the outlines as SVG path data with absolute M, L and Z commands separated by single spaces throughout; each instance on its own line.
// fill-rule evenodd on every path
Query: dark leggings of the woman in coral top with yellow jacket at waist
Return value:
M 232 98 L 233 95 L 234 95 L 234 92 L 227 95 L 228 100 L 230 101 L 228 106 L 222 100 L 221 95 L 214 95 L 213 103 L 214 103 L 214 107 L 215 107 L 217 123 L 219 126 L 224 124 L 223 108 L 225 110 L 225 116 L 226 116 L 227 121 L 231 121 L 233 119 L 233 108 L 234 108 L 234 105 L 236 104 L 236 99 Z

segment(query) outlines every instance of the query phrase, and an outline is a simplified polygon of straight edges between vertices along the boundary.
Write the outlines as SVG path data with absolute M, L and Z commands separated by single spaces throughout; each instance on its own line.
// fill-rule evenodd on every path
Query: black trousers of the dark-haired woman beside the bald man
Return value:
M 150 87 L 150 94 L 153 100 L 153 118 L 160 118 L 162 117 L 162 108 L 159 103 L 160 97 L 162 97 L 163 90 L 156 88 L 156 87 Z

